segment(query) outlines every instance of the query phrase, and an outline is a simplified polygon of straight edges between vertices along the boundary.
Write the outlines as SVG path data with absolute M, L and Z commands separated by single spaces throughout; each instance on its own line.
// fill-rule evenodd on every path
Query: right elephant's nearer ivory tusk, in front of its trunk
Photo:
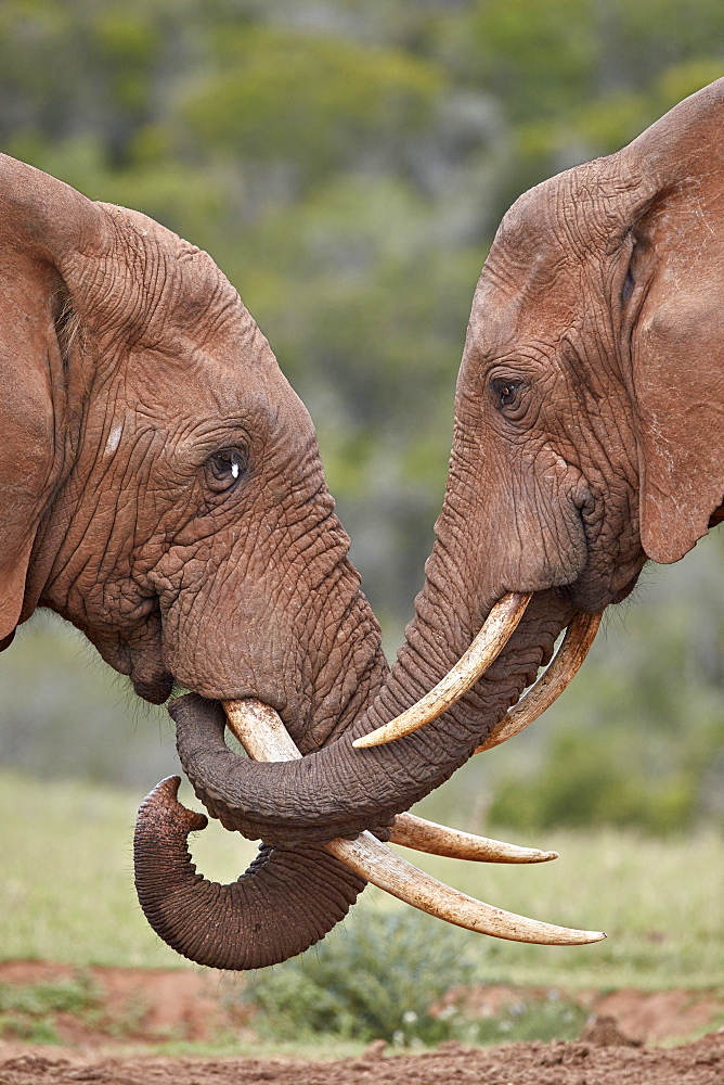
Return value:
M 480 675 L 494 663 L 510 639 L 514 629 L 523 615 L 532 592 L 510 591 L 503 596 L 491 610 L 484 625 L 460 660 L 429 693 L 411 705 L 400 716 L 390 719 L 369 735 L 352 742 L 353 746 L 382 745 L 404 735 L 411 735 L 425 724 L 441 716 L 452 704 L 460 701 L 474 686 Z

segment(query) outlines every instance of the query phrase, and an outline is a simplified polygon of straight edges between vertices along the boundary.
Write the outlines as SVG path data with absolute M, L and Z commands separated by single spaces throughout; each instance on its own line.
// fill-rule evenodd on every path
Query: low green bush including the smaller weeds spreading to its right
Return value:
M 326 1034 L 429 1047 L 578 1038 L 585 1010 L 558 991 L 512 1000 L 490 1017 L 466 1010 L 481 953 L 466 932 L 421 912 L 359 909 L 319 946 L 254 973 L 243 998 L 257 1010 L 255 1031 L 277 1041 Z

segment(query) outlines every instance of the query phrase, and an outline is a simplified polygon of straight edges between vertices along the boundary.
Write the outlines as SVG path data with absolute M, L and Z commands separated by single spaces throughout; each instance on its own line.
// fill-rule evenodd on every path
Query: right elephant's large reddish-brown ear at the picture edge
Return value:
M 642 545 L 663 563 L 706 535 L 724 495 L 723 133 L 720 79 L 613 156 L 657 189 L 633 227 L 632 371 Z

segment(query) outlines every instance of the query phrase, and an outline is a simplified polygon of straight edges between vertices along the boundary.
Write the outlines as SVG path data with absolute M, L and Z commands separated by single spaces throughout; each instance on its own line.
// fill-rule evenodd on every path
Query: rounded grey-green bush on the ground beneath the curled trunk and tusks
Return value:
M 417 912 L 360 909 L 306 954 L 256 973 L 245 997 L 259 1010 L 259 1031 L 280 1039 L 327 1033 L 437 1044 L 458 1034 L 455 1004 L 436 1007 L 471 980 L 464 943 L 461 931 Z

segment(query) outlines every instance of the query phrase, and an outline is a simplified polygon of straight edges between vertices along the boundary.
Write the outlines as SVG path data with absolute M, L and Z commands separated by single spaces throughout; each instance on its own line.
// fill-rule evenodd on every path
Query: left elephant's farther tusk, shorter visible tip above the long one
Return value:
M 476 863 L 547 863 L 557 859 L 557 852 L 541 852 L 538 847 L 520 847 L 489 837 L 450 829 L 447 825 L 426 821 L 414 814 L 398 814 L 392 822 L 390 844 L 414 847 L 430 855 Z

